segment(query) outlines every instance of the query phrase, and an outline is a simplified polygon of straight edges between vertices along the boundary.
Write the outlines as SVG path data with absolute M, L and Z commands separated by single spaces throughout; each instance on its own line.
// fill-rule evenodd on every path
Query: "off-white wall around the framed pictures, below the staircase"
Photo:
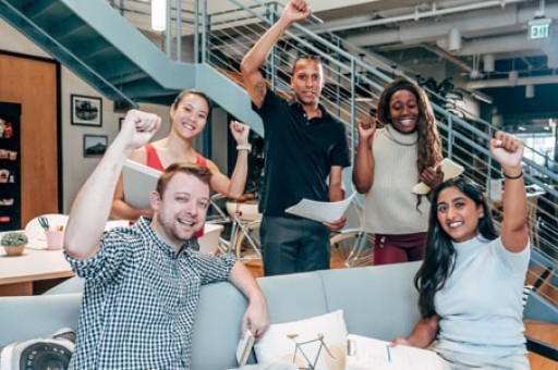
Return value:
M 11 27 L 3 20 L 0 20 L 0 50 L 17 52 L 27 55 L 51 58 L 39 47 L 29 41 L 25 36 Z M 119 118 L 123 113 L 113 111 L 111 100 L 102 97 L 102 126 L 87 127 L 75 126 L 70 123 L 70 96 L 72 94 L 96 96 L 101 95 L 88 86 L 84 81 L 73 74 L 70 70 L 61 67 L 61 126 L 62 126 L 62 188 L 63 188 L 63 212 L 68 213 L 85 180 L 92 173 L 99 158 L 83 157 L 83 135 L 107 135 L 109 144 L 118 134 Z M 169 132 L 169 108 L 156 104 L 141 104 L 140 109 L 157 113 L 162 119 L 162 126 L 154 139 L 166 136 Z M 25 150 L 25 148 L 23 148 Z

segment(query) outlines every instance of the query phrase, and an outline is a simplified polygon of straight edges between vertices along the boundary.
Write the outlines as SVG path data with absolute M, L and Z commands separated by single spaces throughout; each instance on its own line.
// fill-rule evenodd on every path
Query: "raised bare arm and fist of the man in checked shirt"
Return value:
M 128 112 L 122 130 L 107 149 L 93 174 L 77 194 L 70 211 L 64 248 L 75 259 L 88 259 L 97 252 L 112 197 L 124 161 L 131 151 L 145 145 L 159 130 L 160 119 L 136 110 Z

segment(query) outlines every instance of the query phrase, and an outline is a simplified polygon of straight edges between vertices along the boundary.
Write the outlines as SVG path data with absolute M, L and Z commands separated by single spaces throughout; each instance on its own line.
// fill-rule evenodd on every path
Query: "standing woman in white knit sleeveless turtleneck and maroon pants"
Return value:
M 374 264 L 421 260 L 430 203 L 411 189 L 417 182 L 435 188 L 444 180 L 435 169 L 441 144 L 425 91 L 402 78 L 389 84 L 378 118 L 362 120 L 359 136 L 353 182 L 366 194 L 364 227 L 376 235 Z

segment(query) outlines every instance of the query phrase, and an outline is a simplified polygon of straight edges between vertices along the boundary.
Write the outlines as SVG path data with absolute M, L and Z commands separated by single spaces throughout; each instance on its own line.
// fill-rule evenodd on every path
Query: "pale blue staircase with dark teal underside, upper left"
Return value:
M 170 106 L 196 87 L 263 134 L 240 86 L 207 64 L 172 61 L 105 0 L 1 0 L 0 16 L 109 99 Z

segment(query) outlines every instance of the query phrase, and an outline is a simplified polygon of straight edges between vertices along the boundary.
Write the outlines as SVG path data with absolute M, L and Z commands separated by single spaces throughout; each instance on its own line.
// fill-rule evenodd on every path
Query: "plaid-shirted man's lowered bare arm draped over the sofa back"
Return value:
M 242 335 L 244 335 L 246 329 L 250 329 L 256 338 L 263 336 L 269 328 L 269 312 L 267 311 L 266 298 L 256 280 L 244 263 L 236 261 L 229 273 L 229 281 L 248 300 L 248 307 L 242 319 Z

